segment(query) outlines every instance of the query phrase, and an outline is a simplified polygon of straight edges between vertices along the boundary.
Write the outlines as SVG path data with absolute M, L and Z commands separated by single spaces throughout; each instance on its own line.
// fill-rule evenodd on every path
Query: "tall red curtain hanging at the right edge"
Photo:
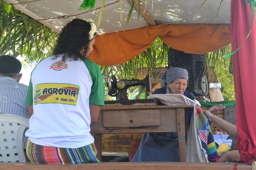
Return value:
M 244 0 L 231 0 L 230 32 L 232 50 L 235 51 L 244 43 L 232 55 L 238 131 L 236 144 L 241 155 L 241 163 L 249 163 L 256 158 L 256 109 L 254 101 L 254 97 L 256 97 L 255 17 L 252 31 L 246 39 L 251 29 L 251 22 L 251 5 L 246 5 Z

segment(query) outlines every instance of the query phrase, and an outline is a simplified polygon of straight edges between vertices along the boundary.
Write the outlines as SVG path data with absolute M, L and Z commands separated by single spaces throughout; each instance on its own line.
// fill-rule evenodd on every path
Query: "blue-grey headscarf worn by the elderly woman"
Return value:
M 188 71 L 179 67 L 172 67 L 164 72 L 160 80 L 161 87 L 165 87 L 166 94 L 170 93 L 168 85 L 178 78 L 185 78 L 188 81 Z

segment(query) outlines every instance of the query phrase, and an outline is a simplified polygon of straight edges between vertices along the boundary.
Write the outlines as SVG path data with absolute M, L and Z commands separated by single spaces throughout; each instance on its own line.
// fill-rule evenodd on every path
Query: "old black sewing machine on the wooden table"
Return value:
M 108 95 L 116 97 L 116 100 L 128 100 L 127 89 L 139 85 L 144 85 L 148 93 L 152 92 L 151 77 L 149 75 L 143 80 L 132 78 L 131 80 L 122 79 L 119 81 L 116 80 L 116 76 L 111 75 L 107 83 Z

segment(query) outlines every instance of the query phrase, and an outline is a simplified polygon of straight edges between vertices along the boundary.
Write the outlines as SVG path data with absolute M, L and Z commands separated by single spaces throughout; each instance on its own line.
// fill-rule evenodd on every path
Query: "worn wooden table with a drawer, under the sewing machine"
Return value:
M 92 125 L 97 158 L 101 160 L 102 134 L 178 132 L 180 162 L 186 162 L 187 121 L 185 111 L 192 105 L 178 106 L 103 106 L 98 121 Z

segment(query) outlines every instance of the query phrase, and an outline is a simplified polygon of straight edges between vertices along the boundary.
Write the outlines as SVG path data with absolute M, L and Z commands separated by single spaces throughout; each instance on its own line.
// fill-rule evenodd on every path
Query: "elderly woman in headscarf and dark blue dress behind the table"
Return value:
M 186 69 L 172 67 L 165 71 L 160 79 L 162 81 L 162 88 L 156 89 L 153 94 L 170 93 L 195 97 L 192 92 L 186 90 L 188 83 L 188 71 Z M 210 108 L 211 111 L 221 109 L 221 105 Z M 189 125 L 192 112 L 190 111 L 186 114 L 187 124 Z M 132 162 L 179 162 L 177 137 L 177 132 L 145 133 Z M 214 152 L 213 157 L 218 159 L 217 152 Z

